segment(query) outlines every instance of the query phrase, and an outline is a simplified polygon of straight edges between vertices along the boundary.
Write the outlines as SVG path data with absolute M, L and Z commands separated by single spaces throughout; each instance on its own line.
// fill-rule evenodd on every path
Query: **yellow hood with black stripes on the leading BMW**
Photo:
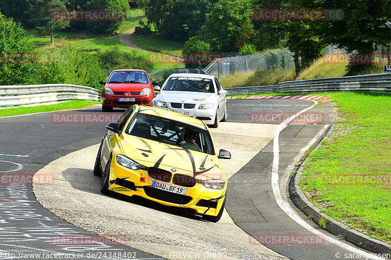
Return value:
M 124 155 L 147 167 L 193 176 L 198 180 L 220 179 L 223 170 L 216 155 L 181 148 L 162 142 L 124 135 Z

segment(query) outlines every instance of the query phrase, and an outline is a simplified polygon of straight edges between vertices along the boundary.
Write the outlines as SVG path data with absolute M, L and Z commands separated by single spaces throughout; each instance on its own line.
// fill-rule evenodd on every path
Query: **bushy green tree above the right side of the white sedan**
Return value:
M 237 51 L 236 42 L 243 24 L 250 24 L 249 0 L 218 0 L 207 14 L 200 35 L 209 42 L 212 51 Z

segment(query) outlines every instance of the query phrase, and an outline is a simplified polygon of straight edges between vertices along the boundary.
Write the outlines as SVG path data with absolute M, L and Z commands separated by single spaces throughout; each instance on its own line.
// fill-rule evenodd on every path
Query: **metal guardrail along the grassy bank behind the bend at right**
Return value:
M 391 74 L 370 74 L 315 80 L 285 81 L 278 85 L 226 88 L 228 95 L 317 93 L 330 91 L 391 92 Z

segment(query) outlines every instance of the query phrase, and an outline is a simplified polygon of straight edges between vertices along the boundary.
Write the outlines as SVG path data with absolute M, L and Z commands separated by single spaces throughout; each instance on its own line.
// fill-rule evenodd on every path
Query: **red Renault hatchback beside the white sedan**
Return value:
M 109 112 L 113 107 L 129 108 L 132 105 L 152 105 L 153 85 L 145 70 L 123 69 L 110 73 L 108 81 L 99 81 L 105 85 L 102 90 L 102 111 Z

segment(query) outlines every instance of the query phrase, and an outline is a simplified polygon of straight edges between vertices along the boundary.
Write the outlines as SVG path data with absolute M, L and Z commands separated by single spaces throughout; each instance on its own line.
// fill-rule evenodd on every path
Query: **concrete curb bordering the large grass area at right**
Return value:
M 331 127 L 328 133 L 330 133 L 333 128 L 334 127 Z M 328 135 L 328 133 L 326 135 Z M 317 150 L 319 146 L 320 142 L 318 143 L 314 151 Z M 304 162 L 306 160 L 304 160 Z M 293 204 L 295 204 L 296 207 L 303 211 L 306 216 L 313 216 L 312 220 L 315 223 L 320 226 L 323 225 L 322 228 L 326 229 L 328 232 L 331 232 L 332 234 L 340 238 L 340 240 L 346 240 L 362 249 L 368 250 L 376 254 L 388 254 L 387 256 L 389 257 L 391 252 L 390 244 L 380 240 L 372 239 L 369 236 L 364 235 L 354 229 L 351 229 L 347 225 L 337 220 L 334 220 L 330 216 L 321 213 L 320 209 L 317 208 L 311 201 L 309 201 L 305 197 L 299 186 L 299 180 L 303 172 L 303 165 L 304 163 L 302 163 L 297 168 L 297 174 L 292 176 L 289 181 L 288 191 Z M 322 225 L 320 224 L 321 222 Z M 324 227 L 325 223 L 326 228 Z

